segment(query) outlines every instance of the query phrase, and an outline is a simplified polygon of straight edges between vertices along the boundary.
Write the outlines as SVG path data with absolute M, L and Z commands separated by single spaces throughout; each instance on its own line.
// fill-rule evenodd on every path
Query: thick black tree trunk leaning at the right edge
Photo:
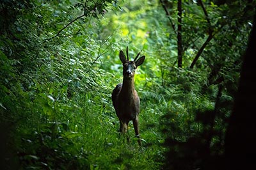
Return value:
M 256 15 L 248 48 L 243 58 L 239 88 L 234 103 L 234 110 L 225 139 L 225 157 L 227 169 L 253 169 L 256 167 Z

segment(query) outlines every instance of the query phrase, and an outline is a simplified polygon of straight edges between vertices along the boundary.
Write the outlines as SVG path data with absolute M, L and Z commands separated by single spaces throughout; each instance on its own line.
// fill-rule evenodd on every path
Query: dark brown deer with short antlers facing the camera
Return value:
M 120 121 L 119 131 L 125 134 L 128 129 L 129 121 L 132 121 L 135 137 L 138 137 L 138 143 L 141 146 L 139 132 L 139 113 L 140 113 L 140 97 L 134 88 L 134 75 L 138 66 L 142 65 L 145 56 L 137 54 L 134 61 L 129 61 L 128 47 L 126 48 L 125 58 L 124 52 L 120 50 L 119 58 L 123 65 L 123 82 L 116 85 L 113 89 L 111 99 L 115 108 L 116 116 Z

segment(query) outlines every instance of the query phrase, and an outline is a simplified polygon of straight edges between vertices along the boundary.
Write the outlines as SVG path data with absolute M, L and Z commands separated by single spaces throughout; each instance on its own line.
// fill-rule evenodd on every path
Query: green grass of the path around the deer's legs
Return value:
M 143 146 L 134 137 L 132 122 L 127 134 L 118 132 L 119 122 L 109 98 L 108 105 L 102 108 L 99 97 L 90 98 L 83 106 L 84 124 L 81 123 L 83 150 L 88 153 L 91 169 L 159 169 L 163 157 L 161 135 L 157 130 L 157 115 L 148 108 L 141 108 L 140 134 Z M 80 130 L 78 130 L 80 131 Z M 127 136 L 131 142 L 127 142 Z

